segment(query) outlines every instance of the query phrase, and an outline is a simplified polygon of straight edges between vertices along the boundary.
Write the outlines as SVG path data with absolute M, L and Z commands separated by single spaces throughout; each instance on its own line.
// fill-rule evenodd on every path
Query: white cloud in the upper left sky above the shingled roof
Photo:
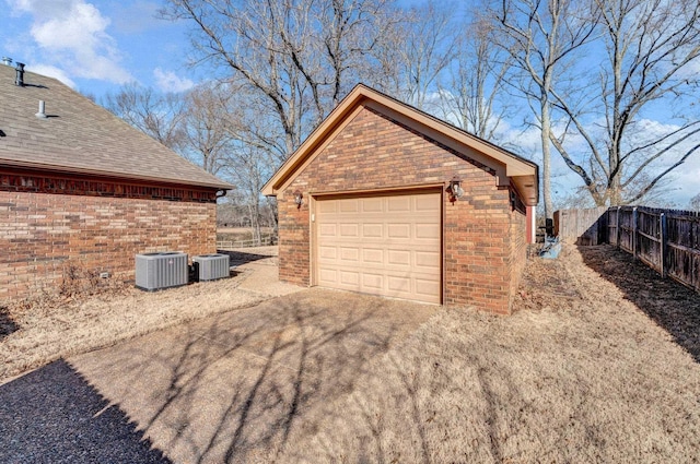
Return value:
M 122 84 L 132 80 L 119 66 L 109 19 L 84 0 L 10 0 L 12 14 L 32 16 L 31 35 L 43 61 L 66 76 Z

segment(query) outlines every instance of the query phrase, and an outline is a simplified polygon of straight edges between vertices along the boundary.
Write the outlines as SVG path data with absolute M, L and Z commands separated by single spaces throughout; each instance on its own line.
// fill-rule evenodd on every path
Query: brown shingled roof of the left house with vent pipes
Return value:
M 232 189 L 59 81 L 0 64 L 0 166 Z M 39 100 L 48 118 L 37 118 Z

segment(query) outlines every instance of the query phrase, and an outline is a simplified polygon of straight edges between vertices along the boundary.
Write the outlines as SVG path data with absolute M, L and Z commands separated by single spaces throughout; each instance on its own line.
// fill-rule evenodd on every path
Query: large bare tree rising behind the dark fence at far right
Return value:
M 568 118 L 567 130 L 550 139 L 596 204 L 649 200 L 700 148 L 700 120 L 693 108 L 700 87 L 700 4 L 595 3 L 607 51 L 599 63 L 598 90 L 584 98 L 571 90 L 550 88 Z M 591 118 L 592 109 L 605 120 Z M 658 114 L 664 124 L 655 121 Z M 567 143 L 571 135 L 584 141 L 585 152 Z

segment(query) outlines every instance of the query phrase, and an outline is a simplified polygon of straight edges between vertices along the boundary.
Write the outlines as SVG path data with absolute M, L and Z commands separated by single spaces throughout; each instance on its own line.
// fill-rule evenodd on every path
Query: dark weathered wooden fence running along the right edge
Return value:
M 607 211 L 607 241 L 663 277 L 700 292 L 700 216 L 678 210 L 618 206 Z

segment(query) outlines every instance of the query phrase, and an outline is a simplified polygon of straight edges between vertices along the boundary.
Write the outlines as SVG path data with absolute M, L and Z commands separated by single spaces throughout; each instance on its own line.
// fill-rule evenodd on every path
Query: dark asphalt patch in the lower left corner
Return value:
M 66 361 L 0 385 L 0 461 L 170 463 Z

